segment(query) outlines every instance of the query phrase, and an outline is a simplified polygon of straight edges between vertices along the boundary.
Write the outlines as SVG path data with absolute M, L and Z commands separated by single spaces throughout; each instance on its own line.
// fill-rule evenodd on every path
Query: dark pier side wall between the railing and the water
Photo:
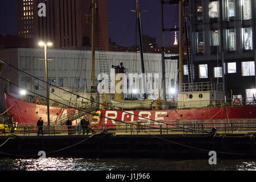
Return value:
M 256 159 L 251 134 L 6 135 L 0 145 L 2 158 L 39 158 L 44 151 L 46 157 L 209 159 L 216 151 L 217 158 Z

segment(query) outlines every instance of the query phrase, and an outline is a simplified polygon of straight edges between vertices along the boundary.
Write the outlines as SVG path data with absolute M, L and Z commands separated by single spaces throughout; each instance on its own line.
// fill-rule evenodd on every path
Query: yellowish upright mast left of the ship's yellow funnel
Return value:
M 96 14 L 96 0 L 92 0 L 92 78 L 91 88 L 95 86 L 95 14 Z

